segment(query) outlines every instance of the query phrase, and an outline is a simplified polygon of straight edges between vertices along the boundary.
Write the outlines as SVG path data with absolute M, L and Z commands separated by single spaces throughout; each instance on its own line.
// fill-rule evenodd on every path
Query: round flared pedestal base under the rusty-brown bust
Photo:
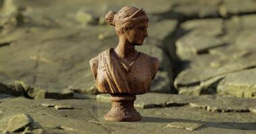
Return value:
M 141 115 L 134 109 L 135 95 L 111 94 L 112 108 L 104 116 L 106 121 L 140 121 Z

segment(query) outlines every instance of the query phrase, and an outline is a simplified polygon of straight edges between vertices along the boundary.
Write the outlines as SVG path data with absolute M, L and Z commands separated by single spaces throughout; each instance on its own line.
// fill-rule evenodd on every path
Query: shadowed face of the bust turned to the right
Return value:
M 141 46 L 148 36 L 148 21 L 142 21 L 131 28 L 125 28 L 124 34 L 127 40 L 134 46 Z

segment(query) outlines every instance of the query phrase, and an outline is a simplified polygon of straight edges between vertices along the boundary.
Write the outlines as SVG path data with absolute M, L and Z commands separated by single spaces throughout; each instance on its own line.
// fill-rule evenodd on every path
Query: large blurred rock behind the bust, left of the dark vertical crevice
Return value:
M 168 1 L 163 2 L 158 10 L 150 8 L 149 15 L 161 13 L 164 10 L 162 5 L 169 7 Z M 74 92 L 98 93 L 88 62 L 106 48 L 115 48 L 118 38 L 114 27 L 109 25 L 98 22 L 80 23 L 86 21 L 92 12 L 81 7 L 90 1 L 65 1 L 59 4 L 57 1 L 5 3 L 2 12 L 5 13 L 7 7 L 11 6 L 14 8 L 11 13 L 22 13 L 24 22 L 20 26 L 3 25 L 1 29 L 0 61 L 5 63 L 0 65 L 0 86 L 3 93 L 28 98 L 73 98 Z M 54 11 L 57 7 L 50 3 L 56 3 L 64 12 Z M 103 4 L 104 10 L 110 7 L 114 10 L 124 3 L 113 8 L 108 6 L 110 3 L 100 1 L 87 6 L 92 8 Z M 145 8 L 147 6 L 149 5 L 143 5 Z M 20 8 L 24 8 L 24 11 L 19 12 Z M 47 14 L 48 11 L 53 13 Z M 98 19 L 106 12 L 93 11 L 97 13 L 91 14 Z M 72 21 L 73 14 L 77 12 L 79 22 Z M 160 60 L 160 71 L 152 82 L 152 92 L 170 92 L 173 73 L 168 55 L 163 49 L 164 40 L 174 32 L 177 20 L 156 20 L 157 17 L 152 16 L 149 24 L 151 36 L 146 40 L 145 47 L 138 50 Z

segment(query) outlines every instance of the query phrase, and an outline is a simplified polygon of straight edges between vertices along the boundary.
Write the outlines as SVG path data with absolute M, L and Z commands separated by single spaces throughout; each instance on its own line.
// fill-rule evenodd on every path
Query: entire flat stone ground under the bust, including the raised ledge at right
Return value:
M 158 102 L 145 101 L 153 96 L 159 98 Z M 143 118 L 129 123 L 104 121 L 110 103 L 100 103 L 99 98 L 103 95 L 97 96 L 98 103 L 94 97 L 66 100 L 2 98 L 0 130 L 5 130 L 14 115 L 28 113 L 47 133 L 256 133 L 256 100 L 148 93 L 137 96 L 135 102 Z M 234 101 L 238 103 L 232 103 Z M 161 106 L 162 103 L 167 105 Z M 149 105 L 151 107 L 143 108 Z M 248 108 L 250 111 L 246 111 Z

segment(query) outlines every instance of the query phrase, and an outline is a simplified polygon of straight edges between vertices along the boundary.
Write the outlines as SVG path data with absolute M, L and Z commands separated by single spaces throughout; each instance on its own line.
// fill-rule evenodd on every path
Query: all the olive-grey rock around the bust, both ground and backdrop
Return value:
M 137 50 L 160 60 L 137 125 L 102 119 L 89 65 L 117 45 L 104 15 L 125 5 L 147 11 Z M 256 1 L 0 0 L 0 93 L 5 133 L 256 133 Z

